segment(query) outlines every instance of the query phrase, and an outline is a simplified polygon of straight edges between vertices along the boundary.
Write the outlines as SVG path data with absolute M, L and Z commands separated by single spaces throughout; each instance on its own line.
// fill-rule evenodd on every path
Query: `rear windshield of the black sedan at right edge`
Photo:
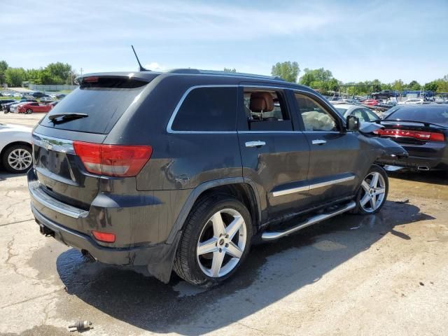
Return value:
M 388 115 L 386 120 L 388 119 L 426 121 L 427 123 L 448 125 L 448 106 L 403 107 Z

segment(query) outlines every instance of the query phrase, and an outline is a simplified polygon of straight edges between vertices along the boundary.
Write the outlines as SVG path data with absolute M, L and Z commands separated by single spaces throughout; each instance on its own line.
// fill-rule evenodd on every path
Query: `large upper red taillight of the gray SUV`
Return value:
M 87 172 L 107 176 L 136 176 L 153 153 L 151 146 L 120 146 L 73 141 Z

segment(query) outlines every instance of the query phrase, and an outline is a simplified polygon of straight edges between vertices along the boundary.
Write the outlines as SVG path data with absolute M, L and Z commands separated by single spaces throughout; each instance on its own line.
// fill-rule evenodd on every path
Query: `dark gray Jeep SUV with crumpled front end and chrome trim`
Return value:
M 78 83 L 33 132 L 36 222 L 85 255 L 147 265 L 165 282 L 174 269 L 211 286 L 257 237 L 376 213 L 388 179 L 374 161 L 405 155 L 320 94 L 272 77 L 179 69 Z

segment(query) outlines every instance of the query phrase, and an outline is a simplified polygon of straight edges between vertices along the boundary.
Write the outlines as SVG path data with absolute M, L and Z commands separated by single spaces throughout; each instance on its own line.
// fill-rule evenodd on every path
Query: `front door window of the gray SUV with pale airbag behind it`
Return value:
M 338 131 L 335 118 L 318 102 L 304 94 L 295 94 L 306 131 Z

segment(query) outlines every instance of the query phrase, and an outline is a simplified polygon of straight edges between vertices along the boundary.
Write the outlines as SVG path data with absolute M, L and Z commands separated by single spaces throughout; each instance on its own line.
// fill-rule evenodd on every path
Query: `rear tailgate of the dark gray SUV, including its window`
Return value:
M 33 132 L 36 192 L 77 209 L 90 209 L 101 174 L 92 174 L 76 155 L 76 141 L 101 144 L 113 125 L 134 104 L 151 78 L 86 77 L 55 106 Z M 82 115 L 83 118 L 55 115 Z M 92 139 L 92 140 L 86 140 Z

